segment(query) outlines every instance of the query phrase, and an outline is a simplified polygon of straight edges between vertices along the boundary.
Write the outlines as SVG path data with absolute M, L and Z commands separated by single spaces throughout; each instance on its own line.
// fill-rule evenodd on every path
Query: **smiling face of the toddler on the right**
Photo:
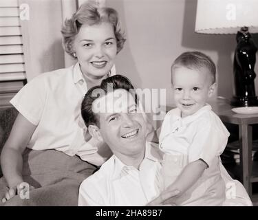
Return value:
M 215 89 L 211 74 L 205 68 L 175 67 L 172 72 L 173 96 L 182 118 L 192 115 L 206 104 Z

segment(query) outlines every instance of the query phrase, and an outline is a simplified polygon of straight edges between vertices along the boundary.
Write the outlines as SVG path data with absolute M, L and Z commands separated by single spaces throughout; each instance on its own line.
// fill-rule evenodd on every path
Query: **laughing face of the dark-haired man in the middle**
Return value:
M 95 100 L 93 107 L 96 109 L 97 105 L 107 110 L 98 113 L 99 132 L 114 155 L 124 160 L 125 157 L 143 157 L 147 129 L 133 96 L 125 89 L 117 89 Z

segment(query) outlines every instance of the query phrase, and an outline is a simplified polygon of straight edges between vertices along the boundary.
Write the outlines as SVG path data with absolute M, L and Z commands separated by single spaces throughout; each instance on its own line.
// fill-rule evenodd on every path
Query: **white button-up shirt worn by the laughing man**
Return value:
M 144 206 L 163 187 L 160 176 L 162 153 L 147 142 L 145 156 L 137 169 L 112 157 L 98 172 L 80 185 L 78 206 Z

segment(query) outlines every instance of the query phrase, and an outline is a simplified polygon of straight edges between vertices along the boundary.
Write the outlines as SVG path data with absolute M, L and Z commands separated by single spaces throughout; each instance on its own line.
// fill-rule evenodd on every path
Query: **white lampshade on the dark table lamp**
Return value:
M 236 34 L 242 27 L 258 33 L 258 0 L 198 0 L 195 32 Z

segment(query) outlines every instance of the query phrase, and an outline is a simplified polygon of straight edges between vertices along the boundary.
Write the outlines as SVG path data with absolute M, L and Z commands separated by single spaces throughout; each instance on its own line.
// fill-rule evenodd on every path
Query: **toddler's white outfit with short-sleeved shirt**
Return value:
M 177 201 L 181 206 L 220 206 L 225 197 L 225 184 L 219 168 L 219 155 L 224 151 L 228 131 L 219 117 L 206 104 L 193 115 L 181 117 L 180 109 L 169 111 L 162 124 L 160 149 L 164 152 L 162 175 L 165 186 L 178 178 L 190 162 L 203 159 L 208 168 L 202 177 Z

